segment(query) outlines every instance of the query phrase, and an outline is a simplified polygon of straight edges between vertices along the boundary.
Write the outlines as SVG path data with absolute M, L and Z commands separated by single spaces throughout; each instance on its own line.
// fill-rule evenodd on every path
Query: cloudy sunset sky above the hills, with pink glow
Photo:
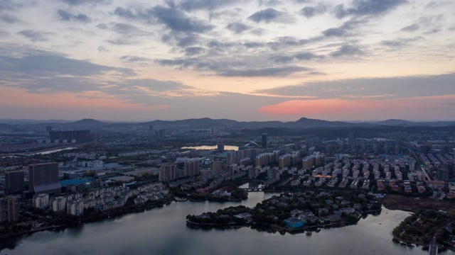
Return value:
M 0 0 L 0 118 L 455 120 L 453 0 Z

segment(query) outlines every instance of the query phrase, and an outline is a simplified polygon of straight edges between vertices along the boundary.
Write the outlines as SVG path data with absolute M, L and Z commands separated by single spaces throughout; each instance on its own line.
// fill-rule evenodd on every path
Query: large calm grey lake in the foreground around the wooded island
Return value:
M 192 229 L 186 215 L 235 205 L 254 206 L 272 193 L 252 192 L 241 202 L 171 203 L 163 208 L 34 233 L 3 242 L 0 254 L 427 254 L 392 242 L 392 229 L 409 212 L 382 209 L 357 225 L 306 234 L 239 229 Z M 451 254 L 451 253 L 448 253 Z

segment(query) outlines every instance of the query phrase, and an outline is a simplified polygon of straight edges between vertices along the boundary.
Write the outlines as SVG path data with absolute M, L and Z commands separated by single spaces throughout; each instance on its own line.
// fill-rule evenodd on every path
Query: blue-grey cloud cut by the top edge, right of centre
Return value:
M 378 16 L 407 3 L 407 0 L 353 0 L 350 8 L 344 8 L 343 4 L 339 4 L 334 12 L 337 18 L 346 16 Z

